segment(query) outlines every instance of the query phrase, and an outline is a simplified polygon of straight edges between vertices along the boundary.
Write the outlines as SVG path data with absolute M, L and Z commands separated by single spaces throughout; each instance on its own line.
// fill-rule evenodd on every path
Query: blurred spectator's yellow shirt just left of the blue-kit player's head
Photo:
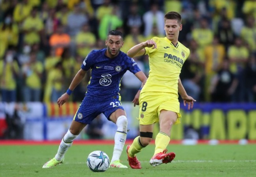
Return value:
M 95 43 L 96 43 L 96 37 L 91 32 L 85 33 L 83 31 L 81 31 L 76 35 L 76 44 L 86 44 L 87 45 L 87 46 L 81 47 L 81 48 L 77 47 L 77 52 L 82 57 L 86 57 L 89 54 L 89 52 L 92 50 L 92 47 L 90 47 L 90 46 L 93 46 Z

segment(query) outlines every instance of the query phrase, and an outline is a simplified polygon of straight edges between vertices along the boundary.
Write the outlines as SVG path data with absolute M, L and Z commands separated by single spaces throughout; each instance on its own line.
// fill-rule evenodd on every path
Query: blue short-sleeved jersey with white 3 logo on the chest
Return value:
M 134 59 L 122 51 L 115 58 L 105 55 L 107 49 L 91 51 L 81 68 L 85 71 L 91 69 L 91 79 L 87 86 L 86 97 L 97 100 L 106 100 L 119 96 L 120 82 L 124 73 L 141 71 Z

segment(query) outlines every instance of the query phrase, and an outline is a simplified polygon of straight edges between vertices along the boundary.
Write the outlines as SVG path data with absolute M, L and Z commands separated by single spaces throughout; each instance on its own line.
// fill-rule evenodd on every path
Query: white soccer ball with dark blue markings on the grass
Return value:
M 108 155 L 103 151 L 93 151 L 87 158 L 87 166 L 93 172 L 105 172 L 109 167 Z

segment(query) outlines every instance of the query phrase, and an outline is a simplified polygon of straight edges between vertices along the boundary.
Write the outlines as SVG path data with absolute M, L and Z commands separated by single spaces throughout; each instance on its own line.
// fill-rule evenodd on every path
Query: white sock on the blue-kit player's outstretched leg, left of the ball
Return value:
M 68 148 L 72 145 L 74 139 L 78 135 L 73 135 L 69 130 L 64 135 L 63 139 L 61 140 L 61 143 L 59 144 L 59 149 L 57 154 L 55 155 L 55 159 L 57 161 L 62 161 L 64 158 L 65 153 L 67 152 Z

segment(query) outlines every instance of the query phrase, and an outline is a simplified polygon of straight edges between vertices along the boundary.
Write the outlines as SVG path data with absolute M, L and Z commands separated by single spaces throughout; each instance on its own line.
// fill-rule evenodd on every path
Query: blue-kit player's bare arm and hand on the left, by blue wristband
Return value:
M 76 76 L 73 78 L 70 86 L 69 86 L 69 90 L 73 91 L 76 86 L 78 86 L 78 84 L 82 81 L 83 77 L 85 77 L 87 71 L 80 69 L 77 73 Z M 69 95 L 67 92 L 65 92 L 63 95 L 61 95 L 61 97 L 59 97 L 59 99 L 57 100 L 57 103 L 60 106 L 62 106 L 65 102 L 67 102 L 67 100 L 69 99 Z

